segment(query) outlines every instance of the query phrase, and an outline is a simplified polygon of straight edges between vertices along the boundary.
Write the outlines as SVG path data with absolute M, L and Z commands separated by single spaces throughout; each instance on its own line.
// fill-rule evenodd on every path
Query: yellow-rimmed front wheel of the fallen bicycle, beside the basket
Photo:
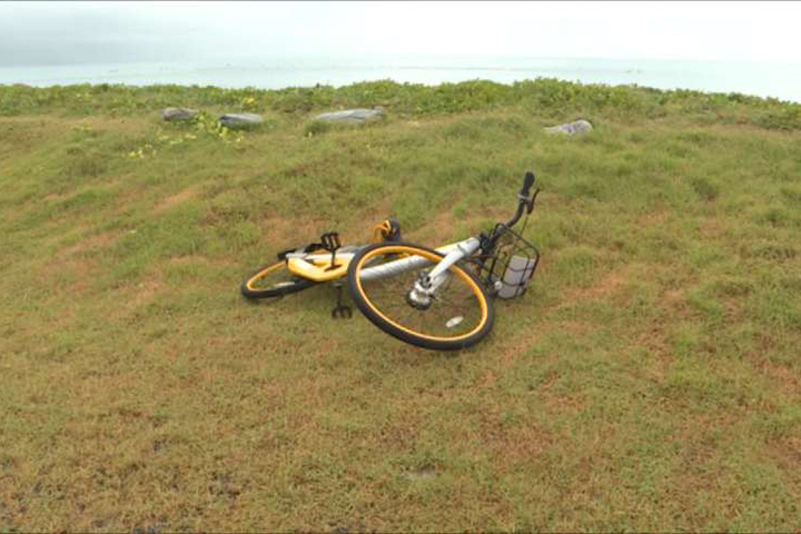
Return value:
M 350 295 L 378 328 L 408 344 L 434 350 L 475 345 L 492 329 L 495 313 L 482 284 L 459 265 L 421 303 L 411 290 L 443 255 L 403 243 L 372 245 L 348 266 Z

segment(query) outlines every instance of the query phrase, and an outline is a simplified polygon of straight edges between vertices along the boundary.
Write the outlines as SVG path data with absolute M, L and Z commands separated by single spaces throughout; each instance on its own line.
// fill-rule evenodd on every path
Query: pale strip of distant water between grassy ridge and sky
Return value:
M 72 83 L 217 86 L 280 89 L 365 80 L 437 85 L 474 79 L 502 83 L 538 77 L 584 83 L 741 92 L 801 102 L 801 63 L 522 58 L 372 58 L 202 62 L 138 62 L 0 67 L 0 85 Z

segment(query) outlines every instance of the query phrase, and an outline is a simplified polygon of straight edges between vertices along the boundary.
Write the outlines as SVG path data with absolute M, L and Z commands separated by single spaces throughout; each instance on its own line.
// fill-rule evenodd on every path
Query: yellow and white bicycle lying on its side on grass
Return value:
M 276 298 L 316 284 L 338 284 L 336 317 L 349 317 L 342 304 L 342 280 L 362 314 L 405 343 L 435 350 L 469 347 L 490 334 L 495 320 L 494 298 L 516 298 L 530 287 L 540 250 L 512 229 L 534 210 L 540 189 L 528 171 L 507 222 L 488 233 L 437 249 L 403 240 L 400 228 L 387 219 L 374 229 L 377 243 L 343 247 L 336 233 L 320 243 L 284 250 L 278 260 L 241 285 L 248 298 Z

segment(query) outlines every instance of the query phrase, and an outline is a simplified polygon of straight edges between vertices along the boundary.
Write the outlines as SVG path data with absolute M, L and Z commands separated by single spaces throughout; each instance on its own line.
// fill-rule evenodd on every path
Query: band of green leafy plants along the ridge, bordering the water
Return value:
M 343 88 L 318 86 L 281 90 L 220 89 L 216 87 L 65 86 L 31 88 L 0 86 L 0 115 L 102 113 L 127 117 L 175 105 L 229 111 L 307 113 L 319 108 L 382 105 L 396 115 L 429 116 L 491 111 L 520 107 L 536 115 L 562 118 L 576 113 L 617 120 L 692 116 L 715 123 L 749 123 L 768 129 L 801 128 L 801 105 L 741 93 L 663 91 L 636 86 L 581 85 L 538 78 L 513 85 L 474 80 L 424 86 L 390 80 L 354 83 Z M 597 117 L 596 117 L 597 116 Z

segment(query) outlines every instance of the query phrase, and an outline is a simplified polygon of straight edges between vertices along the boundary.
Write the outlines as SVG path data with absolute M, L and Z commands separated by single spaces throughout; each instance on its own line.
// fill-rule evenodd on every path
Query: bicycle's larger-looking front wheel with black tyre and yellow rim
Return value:
M 438 290 L 435 297 L 432 298 L 429 307 L 425 309 L 412 305 L 407 298 L 407 291 L 412 288 L 414 279 L 416 279 L 422 269 L 432 268 L 431 264 L 376 280 L 362 280 L 363 269 L 379 265 L 382 256 L 387 256 L 386 261 L 392 261 L 393 259 L 397 260 L 402 255 L 405 257 L 421 256 L 431 261 L 431 264 L 444 257 L 436 250 L 417 245 L 382 243 L 370 245 L 360 250 L 348 266 L 348 287 L 350 288 L 350 295 L 356 306 L 370 323 L 402 342 L 433 350 L 458 350 L 467 348 L 481 342 L 490 334 L 495 320 L 495 310 L 492 300 L 481 281 L 458 264 L 448 269 L 452 276 L 447 283 L 441 286 L 443 293 L 439 294 Z M 395 284 L 397 286 L 397 288 L 390 290 L 390 293 L 393 293 L 392 296 L 387 293 L 387 297 L 383 297 L 380 295 L 380 288 L 378 291 L 373 289 L 372 286 L 378 286 L 380 280 L 390 280 L 387 284 Z M 451 300 L 451 297 L 444 297 L 444 291 L 452 289 L 454 280 L 456 280 L 459 287 L 464 287 L 458 289 L 461 294 L 452 294 L 455 295 L 453 297 L 455 300 Z M 447 287 L 445 287 L 446 284 Z M 471 299 L 475 301 L 471 303 Z M 469 308 L 477 306 L 477 316 L 473 317 L 471 313 L 469 319 L 466 320 L 465 315 L 459 315 L 459 312 L 456 310 L 455 303 L 462 301 L 465 304 L 469 303 Z M 405 308 L 404 304 L 406 305 Z M 433 313 L 435 306 L 438 308 L 436 313 Z M 398 310 L 397 314 L 389 316 L 389 308 L 396 308 Z M 456 315 L 453 315 L 454 313 Z M 393 312 L 393 314 L 395 313 Z M 404 318 L 399 318 L 399 315 L 403 315 Z M 417 323 L 418 326 L 413 326 L 414 323 Z M 424 323 L 431 332 L 422 330 L 419 326 Z M 447 330 L 454 328 L 454 326 L 452 326 L 453 323 L 455 323 L 455 326 L 461 326 L 462 323 L 465 324 L 461 326 L 459 330 L 451 335 Z M 464 329 L 467 332 L 463 332 Z M 434 332 L 436 332 L 436 334 Z M 446 332 L 446 334 L 443 335 L 442 332 Z

